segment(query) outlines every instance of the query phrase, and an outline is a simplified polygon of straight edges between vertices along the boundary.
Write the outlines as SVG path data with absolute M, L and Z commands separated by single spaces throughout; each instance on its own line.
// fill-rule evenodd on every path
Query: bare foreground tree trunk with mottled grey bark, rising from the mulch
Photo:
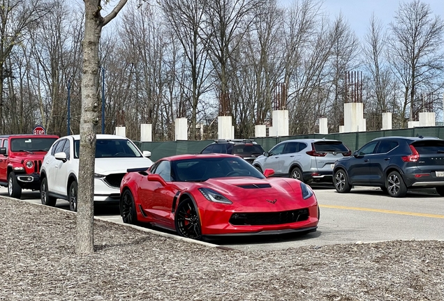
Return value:
M 80 119 L 80 160 L 77 206 L 77 254 L 94 252 L 94 161 L 98 123 L 98 45 L 103 26 L 117 16 L 127 0 L 120 0 L 102 17 L 101 0 L 84 0 L 84 39 L 82 69 L 82 116 Z

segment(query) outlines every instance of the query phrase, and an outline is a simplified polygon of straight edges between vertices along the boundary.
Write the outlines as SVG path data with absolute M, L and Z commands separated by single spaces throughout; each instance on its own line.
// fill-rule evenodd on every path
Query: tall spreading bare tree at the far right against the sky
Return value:
M 389 57 L 394 74 L 404 87 L 402 127 L 413 121 L 419 106 L 415 100 L 422 93 L 433 93 L 443 86 L 444 54 L 442 51 L 444 22 L 432 17 L 430 6 L 419 0 L 400 3 L 390 24 Z M 421 93 L 422 92 L 422 93 Z M 409 118 L 406 110 L 410 107 Z

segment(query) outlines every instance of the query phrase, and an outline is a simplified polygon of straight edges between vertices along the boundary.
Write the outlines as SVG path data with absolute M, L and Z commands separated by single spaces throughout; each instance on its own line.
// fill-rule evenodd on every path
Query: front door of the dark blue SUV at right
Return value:
M 350 157 L 348 176 L 353 184 L 369 183 L 370 157 L 378 143 L 379 141 L 370 141 Z

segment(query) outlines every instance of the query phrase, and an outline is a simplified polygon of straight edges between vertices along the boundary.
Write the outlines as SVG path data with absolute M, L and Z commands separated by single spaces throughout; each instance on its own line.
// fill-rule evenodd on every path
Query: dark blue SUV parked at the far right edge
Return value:
M 444 196 L 444 140 L 436 137 L 380 137 L 336 161 L 333 182 L 337 192 L 353 185 L 378 186 L 390 196 L 407 189 L 436 188 Z

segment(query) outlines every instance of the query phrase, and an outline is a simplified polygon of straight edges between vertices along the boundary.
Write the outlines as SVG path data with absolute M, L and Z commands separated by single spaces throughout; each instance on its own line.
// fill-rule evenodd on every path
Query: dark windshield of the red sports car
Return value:
M 265 178 L 249 162 L 240 157 L 196 157 L 172 161 L 172 178 L 178 182 L 202 182 L 209 178 L 251 176 Z

